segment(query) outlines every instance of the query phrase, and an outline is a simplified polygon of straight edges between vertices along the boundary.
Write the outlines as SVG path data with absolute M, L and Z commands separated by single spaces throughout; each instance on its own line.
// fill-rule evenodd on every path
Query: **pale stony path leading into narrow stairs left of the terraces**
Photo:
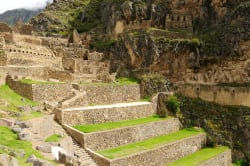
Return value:
M 95 161 L 90 157 L 84 148 L 81 147 L 72 137 L 65 132 L 61 125 L 54 121 L 53 115 L 47 115 L 40 118 L 35 118 L 26 121 L 29 128 L 24 129 L 25 133 L 29 133 L 30 139 L 32 140 L 33 147 L 44 143 L 44 139 L 48 136 L 56 133 L 64 137 L 61 140 L 60 147 L 62 147 L 69 156 L 74 156 L 77 160 L 77 166 L 97 166 Z M 50 153 L 43 153 L 46 157 L 51 158 Z

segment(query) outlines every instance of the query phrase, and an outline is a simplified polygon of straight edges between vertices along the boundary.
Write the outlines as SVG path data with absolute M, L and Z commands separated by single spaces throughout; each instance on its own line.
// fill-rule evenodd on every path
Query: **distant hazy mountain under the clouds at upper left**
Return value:
M 14 25 L 19 19 L 21 19 L 24 23 L 28 23 L 32 17 L 38 15 L 41 11 L 42 9 L 35 11 L 27 9 L 9 10 L 0 14 L 0 22 Z

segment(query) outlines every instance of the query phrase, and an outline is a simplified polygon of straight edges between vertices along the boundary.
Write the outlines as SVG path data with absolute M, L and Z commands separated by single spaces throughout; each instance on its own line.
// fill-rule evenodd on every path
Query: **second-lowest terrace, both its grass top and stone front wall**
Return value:
M 102 166 L 165 166 L 200 150 L 206 144 L 206 134 L 202 131 L 178 131 L 166 136 L 160 138 L 166 141 L 163 144 L 159 144 L 159 137 L 154 139 L 156 146 L 152 146 L 152 142 L 145 145 L 142 141 L 97 153 L 91 151 L 90 155 Z

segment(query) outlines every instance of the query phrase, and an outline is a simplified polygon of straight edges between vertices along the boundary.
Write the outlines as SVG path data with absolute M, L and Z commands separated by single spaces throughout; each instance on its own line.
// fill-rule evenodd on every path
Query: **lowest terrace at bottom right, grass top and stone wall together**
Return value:
M 205 148 L 184 158 L 176 160 L 167 166 L 231 166 L 231 150 L 227 147 L 219 146 L 215 148 Z

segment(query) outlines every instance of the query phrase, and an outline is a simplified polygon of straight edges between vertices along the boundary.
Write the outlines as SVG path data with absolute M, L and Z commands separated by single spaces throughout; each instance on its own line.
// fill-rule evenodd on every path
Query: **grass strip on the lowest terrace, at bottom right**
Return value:
M 215 157 L 216 155 L 222 152 L 225 152 L 226 150 L 228 150 L 228 147 L 225 146 L 205 148 L 180 160 L 167 164 L 167 166 L 196 166 L 202 162 L 205 162 Z

